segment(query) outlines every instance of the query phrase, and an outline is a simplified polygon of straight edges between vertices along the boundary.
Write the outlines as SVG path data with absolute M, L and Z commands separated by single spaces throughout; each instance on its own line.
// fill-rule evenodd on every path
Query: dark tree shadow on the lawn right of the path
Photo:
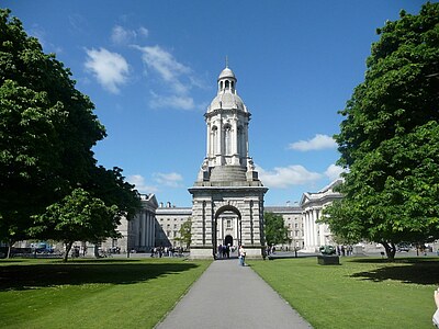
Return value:
M 396 259 L 395 262 L 392 263 L 381 259 L 359 259 L 352 260 L 352 262 L 381 263 L 383 266 L 373 271 L 354 273 L 350 275 L 351 277 L 370 280 L 373 282 L 395 280 L 403 283 L 439 284 L 438 259 L 406 258 Z

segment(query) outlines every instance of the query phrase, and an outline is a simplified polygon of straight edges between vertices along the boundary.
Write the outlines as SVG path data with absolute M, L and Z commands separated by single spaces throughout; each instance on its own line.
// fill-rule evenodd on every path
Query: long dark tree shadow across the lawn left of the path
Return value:
M 136 260 L 85 260 L 80 262 L 0 266 L 0 291 L 33 290 L 58 285 L 133 284 L 198 268 L 194 263 Z

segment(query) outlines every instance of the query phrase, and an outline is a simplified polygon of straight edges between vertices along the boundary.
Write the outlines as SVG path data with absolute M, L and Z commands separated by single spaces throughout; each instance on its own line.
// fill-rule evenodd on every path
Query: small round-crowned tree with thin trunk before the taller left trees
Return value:
M 35 215 L 31 232 L 35 237 L 52 238 L 66 246 L 64 261 L 75 241 L 102 241 L 119 237 L 117 206 L 106 206 L 102 200 L 82 189 L 75 189 L 60 202 L 49 205 L 42 215 Z

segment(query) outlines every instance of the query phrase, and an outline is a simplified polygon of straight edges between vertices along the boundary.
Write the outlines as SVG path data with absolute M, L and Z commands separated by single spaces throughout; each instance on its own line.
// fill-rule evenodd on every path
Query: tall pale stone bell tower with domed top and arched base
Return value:
M 192 194 L 191 258 L 215 257 L 218 245 L 244 245 L 247 257 L 264 256 L 263 195 L 248 152 L 250 112 L 236 92 L 237 79 L 226 67 L 217 94 L 204 114 L 206 157 Z

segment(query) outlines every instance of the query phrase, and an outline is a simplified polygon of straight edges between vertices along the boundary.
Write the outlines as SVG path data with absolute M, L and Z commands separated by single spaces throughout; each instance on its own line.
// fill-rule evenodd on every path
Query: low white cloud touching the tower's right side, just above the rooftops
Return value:
M 286 189 L 292 185 L 303 185 L 316 182 L 322 174 L 306 170 L 300 164 L 289 167 L 275 167 L 272 171 L 266 171 L 257 166 L 259 179 L 268 188 Z

